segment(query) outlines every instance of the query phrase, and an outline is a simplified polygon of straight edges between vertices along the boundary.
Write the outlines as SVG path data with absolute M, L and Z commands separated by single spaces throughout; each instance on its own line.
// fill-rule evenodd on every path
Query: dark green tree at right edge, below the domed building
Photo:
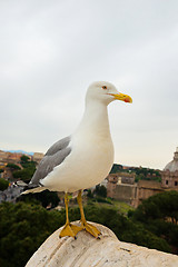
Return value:
M 164 236 L 178 253 L 178 191 L 157 194 L 144 200 L 131 218 L 158 237 Z

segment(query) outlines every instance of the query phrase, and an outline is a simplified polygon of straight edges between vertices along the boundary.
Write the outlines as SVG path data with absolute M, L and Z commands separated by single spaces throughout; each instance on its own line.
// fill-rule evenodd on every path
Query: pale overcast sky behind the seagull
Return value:
M 0 149 L 70 135 L 96 80 L 134 103 L 109 109 L 115 162 L 162 169 L 178 146 L 177 0 L 1 0 Z

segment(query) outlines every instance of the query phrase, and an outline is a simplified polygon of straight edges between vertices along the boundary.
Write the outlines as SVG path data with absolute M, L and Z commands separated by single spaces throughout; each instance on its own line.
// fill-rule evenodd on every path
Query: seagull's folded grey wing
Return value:
M 68 146 L 69 142 L 70 137 L 66 137 L 48 149 L 30 181 L 31 186 L 39 186 L 39 181 L 51 172 L 56 166 L 60 165 L 67 156 L 69 156 L 71 152 L 71 148 Z

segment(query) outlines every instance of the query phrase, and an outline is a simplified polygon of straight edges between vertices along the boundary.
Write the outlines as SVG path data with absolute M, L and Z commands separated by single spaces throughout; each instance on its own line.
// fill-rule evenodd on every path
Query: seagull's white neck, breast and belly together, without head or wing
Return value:
M 108 112 L 105 105 L 90 103 L 69 144 L 70 155 L 42 180 L 49 189 L 77 191 L 102 181 L 113 164 Z

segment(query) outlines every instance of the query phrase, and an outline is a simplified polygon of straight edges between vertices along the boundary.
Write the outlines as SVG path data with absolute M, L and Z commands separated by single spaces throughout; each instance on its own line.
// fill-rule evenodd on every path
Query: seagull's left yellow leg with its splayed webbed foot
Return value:
M 68 194 L 65 195 L 65 205 L 66 205 L 66 225 L 63 226 L 62 230 L 60 231 L 59 237 L 71 236 L 71 237 L 76 238 L 76 235 L 82 228 L 79 227 L 79 226 L 75 226 L 75 225 L 69 222 L 69 214 L 68 214 L 69 198 L 68 198 Z

